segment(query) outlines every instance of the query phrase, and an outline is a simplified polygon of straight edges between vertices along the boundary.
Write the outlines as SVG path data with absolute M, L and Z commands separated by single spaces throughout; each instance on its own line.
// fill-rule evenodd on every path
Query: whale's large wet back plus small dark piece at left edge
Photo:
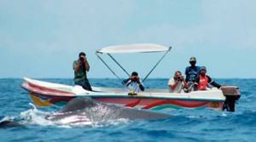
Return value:
M 80 122 L 101 122 L 102 120 L 157 120 L 166 119 L 171 115 L 136 110 L 116 105 L 108 105 L 90 98 L 76 98 L 68 102 L 68 104 L 60 111 L 45 118 L 49 121 L 62 121 L 64 123 L 80 123 Z M 19 122 L 3 121 L 0 122 L 0 128 L 22 128 L 24 125 Z

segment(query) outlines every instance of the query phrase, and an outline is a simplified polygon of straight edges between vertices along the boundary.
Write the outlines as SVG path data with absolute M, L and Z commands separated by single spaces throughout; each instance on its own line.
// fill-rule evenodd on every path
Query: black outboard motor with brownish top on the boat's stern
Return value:
M 235 111 L 235 105 L 236 101 L 240 99 L 240 91 L 239 88 L 236 86 L 226 86 L 226 87 L 221 87 L 221 90 L 226 97 L 226 100 L 223 105 L 223 111 Z

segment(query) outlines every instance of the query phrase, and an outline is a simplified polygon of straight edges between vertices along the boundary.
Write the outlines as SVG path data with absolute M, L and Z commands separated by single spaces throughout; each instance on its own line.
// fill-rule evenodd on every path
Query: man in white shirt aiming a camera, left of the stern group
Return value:
M 168 85 L 170 93 L 181 93 L 183 88 L 189 88 L 189 85 L 185 82 L 181 71 L 175 72 L 174 77 L 169 80 Z

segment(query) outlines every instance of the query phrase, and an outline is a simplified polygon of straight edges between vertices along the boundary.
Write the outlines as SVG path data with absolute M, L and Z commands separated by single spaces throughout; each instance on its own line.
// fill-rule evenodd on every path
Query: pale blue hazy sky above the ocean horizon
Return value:
M 96 50 L 134 43 L 172 46 L 149 78 L 184 73 L 192 56 L 212 78 L 256 78 L 256 1 L 0 0 L 0 78 L 73 78 L 79 52 L 89 78 L 115 78 Z M 113 57 L 143 78 L 162 55 Z

